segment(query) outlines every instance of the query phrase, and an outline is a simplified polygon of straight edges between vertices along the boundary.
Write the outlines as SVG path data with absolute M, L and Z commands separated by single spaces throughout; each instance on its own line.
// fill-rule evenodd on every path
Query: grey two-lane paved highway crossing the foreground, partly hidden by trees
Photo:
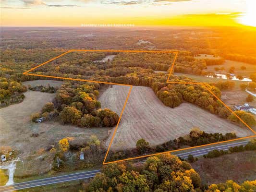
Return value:
M 180 154 L 175 154 L 175 155 L 180 156 L 182 158 L 187 158 L 188 155 L 190 155 L 190 154 L 193 155 L 194 157 L 203 156 L 203 155 L 206 155 L 209 151 L 212 151 L 214 149 L 228 150 L 230 147 L 245 145 L 248 142 L 249 141 L 242 141 L 242 142 L 236 142 L 236 143 L 232 143 L 232 144 L 222 144 L 219 146 L 212 146 L 212 147 L 209 146 L 204 149 L 194 150 L 191 152 L 180 153 Z M 68 175 L 63 175 L 63 176 L 58 176 L 58 177 L 50 177 L 50 178 L 41 179 L 41 180 L 31 180 L 31 181 L 22 182 L 22 183 L 15 183 L 15 184 L 12 184 L 9 186 L 0 187 L 0 192 L 12 192 L 15 190 L 26 189 L 26 188 L 31 188 L 31 187 L 38 187 L 38 186 L 49 185 L 49 184 L 54 184 L 54 183 L 60 183 L 60 182 L 66 182 L 66 181 L 72 181 L 72 180 L 82 180 L 82 179 L 92 178 L 97 173 L 100 173 L 99 169 L 92 170 L 92 171 L 80 172 L 80 173 L 73 173 L 73 174 L 68 174 Z

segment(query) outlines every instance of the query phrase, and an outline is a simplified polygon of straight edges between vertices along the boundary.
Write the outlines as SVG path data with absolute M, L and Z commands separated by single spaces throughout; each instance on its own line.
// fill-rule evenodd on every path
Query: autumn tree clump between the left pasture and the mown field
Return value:
M 58 89 L 53 100 L 63 123 L 81 127 L 113 127 L 119 116 L 108 108 L 101 109 L 97 100 L 100 84 L 66 82 Z

